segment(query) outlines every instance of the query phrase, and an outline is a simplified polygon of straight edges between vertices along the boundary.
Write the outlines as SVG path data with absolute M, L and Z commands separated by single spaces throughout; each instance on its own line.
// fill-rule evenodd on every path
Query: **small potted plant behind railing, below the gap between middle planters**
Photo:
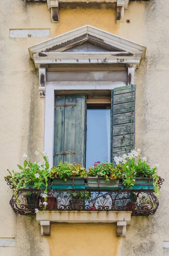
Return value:
M 71 192 L 70 193 L 70 206 L 74 210 L 83 210 L 85 201 L 89 201 L 89 192 Z

